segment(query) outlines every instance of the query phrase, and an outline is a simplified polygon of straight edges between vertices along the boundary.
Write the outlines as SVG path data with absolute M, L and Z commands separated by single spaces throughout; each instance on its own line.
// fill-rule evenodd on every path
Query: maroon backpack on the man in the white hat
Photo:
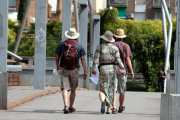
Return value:
M 60 67 L 73 70 L 79 67 L 79 60 L 76 55 L 77 41 L 76 40 L 65 40 L 64 47 L 61 55 Z

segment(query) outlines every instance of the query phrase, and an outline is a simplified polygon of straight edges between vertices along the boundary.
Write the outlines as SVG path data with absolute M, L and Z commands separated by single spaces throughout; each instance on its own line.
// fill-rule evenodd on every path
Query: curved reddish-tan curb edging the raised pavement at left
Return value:
M 88 90 L 88 89 L 77 88 L 76 90 Z M 31 101 L 31 100 L 33 100 L 35 98 L 45 96 L 45 95 L 49 95 L 49 94 L 55 94 L 56 92 L 60 92 L 60 91 L 61 91 L 60 88 L 56 88 L 56 89 L 46 90 L 46 91 L 43 91 L 43 92 L 38 92 L 38 93 L 32 94 L 32 95 L 30 95 L 28 97 L 17 100 L 15 102 L 8 103 L 7 107 L 8 107 L 8 109 L 10 109 L 10 108 L 19 106 L 21 104 L 24 104 L 26 102 L 29 102 L 29 101 Z

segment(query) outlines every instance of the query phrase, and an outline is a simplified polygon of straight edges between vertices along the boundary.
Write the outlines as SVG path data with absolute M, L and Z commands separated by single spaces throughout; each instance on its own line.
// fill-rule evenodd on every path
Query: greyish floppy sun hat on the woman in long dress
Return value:
M 114 38 L 113 38 L 113 33 L 111 31 L 106 31 L 104 33 L 104 35 L 101 35 L 100 38 L 102 38 L 105 41 L 108 42 L 115 42 Z

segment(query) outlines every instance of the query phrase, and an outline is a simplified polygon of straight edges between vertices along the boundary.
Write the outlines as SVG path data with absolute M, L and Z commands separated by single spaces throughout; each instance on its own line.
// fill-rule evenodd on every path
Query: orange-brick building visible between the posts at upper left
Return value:
M 47 0 L 47 22 L 52 20 L 62 21 L 62 6 L 63 0 Z M 20 0 L 9 0 L 9 18 L 12 20 L 17 20 L 18 9 L 19 9 Z M 36 0 L 32 0 L 28 17 L 26 20 L 26 26 L 29 26 L 29 23 L 35 22 L 36 15 Z M 75 15 L 74 15 L 74 6 L 72 0 L 72 10 L 71 10 L 71 25 L 75 25 Z

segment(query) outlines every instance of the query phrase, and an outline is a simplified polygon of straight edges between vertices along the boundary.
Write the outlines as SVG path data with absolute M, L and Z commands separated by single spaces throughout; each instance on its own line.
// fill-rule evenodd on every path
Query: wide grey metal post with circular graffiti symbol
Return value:
M 34 89 L 44 89 L 46 78 L 47 0 L 36 0 Z

